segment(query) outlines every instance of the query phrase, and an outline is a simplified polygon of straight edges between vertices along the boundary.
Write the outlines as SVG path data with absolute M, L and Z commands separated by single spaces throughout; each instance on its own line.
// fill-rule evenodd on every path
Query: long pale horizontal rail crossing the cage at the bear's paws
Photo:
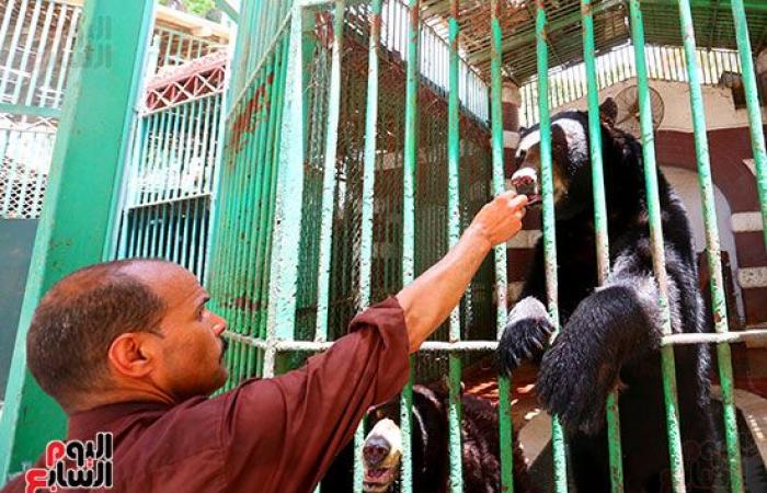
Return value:
M 286 352 L 320 352 L 329 349 L 333 342 L 313 341 L 273 341 L 259 340 L 249 335 L 226 331 L 224 336 L 232 341 L 249 344 L 260 349 L 272 348 L 277 353 Z M 678 346 L 688 344 L 717 344 L 717 343 L 741 343 L 749 341 L 767 341 L 767 329 L 753 329 L 743 332 L 728 332 L 723 334 L 672 334 L 661 337 L 662 346 Z M 426 341 L 419 351 L 427 352 L 490 352 L 497 348 L 497 341 L 460 341 L 443 342 Z

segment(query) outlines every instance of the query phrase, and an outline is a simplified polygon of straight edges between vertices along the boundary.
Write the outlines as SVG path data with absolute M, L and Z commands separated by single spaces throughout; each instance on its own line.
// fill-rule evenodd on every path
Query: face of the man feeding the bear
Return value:
M 167 310 L 159 324 L 156 381 L 176 402 L 207 395 L 227 379 L 226 342 L 221 337 L 226 321 L 206 308 L 208 294 L 192 273 L 170 264 L 159 271 L 152 275 L 150 287 L 163 299 Z

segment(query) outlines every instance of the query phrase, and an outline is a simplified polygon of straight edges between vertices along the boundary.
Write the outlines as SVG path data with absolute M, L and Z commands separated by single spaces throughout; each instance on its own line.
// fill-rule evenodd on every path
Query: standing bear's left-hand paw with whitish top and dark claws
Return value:
M 543 303 L 527 297 L 508 313 L 495 357 L 499 370 L 508 376 L 523 358 L 536 359 L 545 351 L 554 326 Z

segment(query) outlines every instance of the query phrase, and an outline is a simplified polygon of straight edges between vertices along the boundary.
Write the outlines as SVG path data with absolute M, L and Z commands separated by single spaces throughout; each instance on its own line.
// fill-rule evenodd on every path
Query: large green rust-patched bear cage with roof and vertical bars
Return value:
M 419 262 L 427 236 L 421 222 L 428 216 L 424 188 L 446 193 L 436 209 L 446 226 L 444 242 L 430 245 L 439 253 L 458 238 L 465 220 L 470 217 L 466 207 L 466 184 L 462 183 L 466 146 L 470 139 L 461 128 L 467 116 L 486 125 L 491 138 L 489 176 L 492 193 L 504 188 L 504 126 L 502 93 L 504 80 L 524 82 L 536 77 L 536 83 L 524 88 L 527 103 L 527 123 L 540 119 L 542 136 L 543 173 L 543 242 L 547 264 L 549 310 L 559 320 L 557 308 L 556 238 L 551 181 L 551 136 L 549 131 L 552 104 L 561 104 L 588 95 L 591 139 L 599 140 L 598 89 L 607 80 L 637 77 L 644 142 L 645 180 L 650 197 L 651 236 L 655 274 L 661 286 L 660 305 L 664 313 L 662 344 L 663 389 L 666 399 L 668 454 L 676 492 L 685 491 L 678 410 L 675 393 L 674 344 L 717 343 L 722 401 L 725 422 L 729 483 L 734 492 L 744 491 L 740 448 L 733 402 L 733 380 L 729 342 L 748 337 L 764 337 L 764 331 L 729 333 L 728 313 L 722 291 L 719 234 L 717 231 L 711 184 L 706 122 L 702 112 L 702 83 L 719 83 L 724 71 L 742 73 L 748 116 L 752 126 L 756 181 L 759 191 L 763 222 L 767 219 L 767 170 L 754 71 L 755 53 L 763 48 L 760 38 L 765 26 L 765 8 L 747 2 L 751 23 L 742 1 L 718 4 L 707 1 L 604 1 L 604 2 L 538 2 L 506 3 L 492 1 L 490 5 L 473 1 L 373 1 L 358 2 L 298 2 L 290 7 L 267 0 L 243 4 L 233 76 L 232 108 L 229 116 L 228 148 L 221 180 L 222 204 L 217 221 L 217 246 L 211 262 L 211 294 L 216 308 L 233 321 L 231 332 L 233 351 L 228 364 L 232 369 L 229 387 L 251 375 L 275 375 L 296 364 L 290 357 L 328 347 L 329 335 L 337 335 L 337 313 L 342 321 L 356 310 L 364 309 L 376 293 L 396 290 L 428 265 Z M 405 12 L 407 9 L 407 12 Z M 649 19 L 645 32 L 643 16 Z M 673 20 L 673 22 L 669 21 Z M 331 30 L 332 23 L 332 30 Z M 514 26 L 515 28 L 512 28 Z M 749 28 L 752 32 L 749 35 Z M 393 36 L 392 33 L 393 32 Z M 513 34 L 508 34 L 513 32 Z M 332 34 L 330 34 L 332 33 Z M 347 84 L 355 67 L 350 53 L 367 45 L 367 93 L 365 94 L 365 136 L 356 142 L 357 162 L 350 161 L 347 122 L 352 119 L 344 104 L 352 98 Z M 436 44 L 434 36 L 436 35 Z M 698 49 L 697 37 L 708 38 L 708 50 Z M 389 39 L 396 41 L 392 45 Z M 582 39 L 582 43 L 579 41 Z M 622 49 L 611 48 L 630 45 Z M 752 50 L 752 44 L 757 50 Z M 676 46 L 676 47 L 675 47 Z M 721 49 L 712 51 L 711 46 Z M 447 48 L 447 49 L 440 49 Z M 596 48 L 600 58 L 597 59 Z M 527 48 L 527 49 L 526 49 Z M 319 50 L 319 53 L 318 53 Z M 327 53 L 329 51 L 329 54 Z M 628 55 L 631 55 L 627 58 Z M 655 58 L 652 58 L 655 56 Z M 616 72 L 599 70 L 606 58 L 622 57 L 625 66 Z M 668 60 L 675 59 L 674 64 Z M 404 65 L 404 107 L 401 107 L 402 144 L 398 170 L 401 177 L 386 176 L 382 171 L 390 152 L 392 126 L 388 65 L 394 58 Z M 549 65 L 583 59 L 576 69 L 581 76 L 549 77 Z M 660 61 L 660 62 L 659 62 Z M 662 62 L 665 61 L 665 65 Z M 385 65 L 386 64 L 386 65 Z M 463 64 L 477 71 L 480 81 L 488 81 L 489 117 L 471 111 L 466 100 L 461 70 Z M 381 68 L 386 67 L 386 68 Z M 616 67 L 614 64 L 613 67 Z M 702 67 L 702 69 L 701 69 Z M 571 70 L 576 70 L 571 69 Z M 436 76 L 434 74 L 436 70 Z M 566 67 L 564 70 L 568 70 Z M 650 71 L 650 73 L 649 73 Z M 698 175 L 707 230 L 707 255 L 712 273 L 711 293 L 716 334 L 672 334 L 665 286 L 663 240 L 660 229 L 660 207 L 655 183 L 655 151 L 653 146 L 652 108 L 649 105 L 649 78 L 668 78 L 687 82 L 695 127 Z M 568 78 L 570 77 L 570 78 Z M 320 85 L 318 88 L 318 81 Z M 569 83 L 569 84 L 568 84 Z M 436 87 L 435 87 L 436 85 Z M 447 101 L 448 128 L 443 137 L 447 152 L 446 176 L 422 174 L 431 169 L 431 139 L 424 139 L 424 121 L 431 118 L 433 103 L 424 87 L 435 89 Z M 442 92 L 440 92 L 442 91 Z M 474 93 L 474 95 L 472 95 Z M 362 96 L 357 96 L 362 98 Z M 469 98 L 483 99 L 474 91 Z M 537 99 L 537 102 L 536 102 Z M 357 100 L 354 100 L 357 101 Z M 358 107 L 356 104 L 355 107 Z M 362 116 L 362 111 L 357 113 Z M 360 125 L 362 126 L 362 125 Z M 319 128 L 318 128 L 319 127 Z M 400 128 L 394 125 L 396 128 Z M 233 139 L 233 140 L 232 140 Z M 424 141 L 425 140 L 425 141 Z M 428 144 L 427 144 L 428 142 Z M 599 149 L 599 145 L 594 148 Z M 249 167 L 255 158 L 257 170 Z M 609 272 L 606 211 L 602 185 L 602 162 L 594 153 L 595 220 L 598 231 L 598 276 L 604 280 Z M 360 167 L 362 184 L 350 179 L 350 165 Z M 257 173 L 252 176 L 252 173 Z M 381 184 L 384 182 L 384 184 Z M 397 183 L 401 200 L 389 207 L 382 187 Z M 356 190 L 355 190 L 356 186 Z M 241 200 L 244 194 L 251 197 Z M 358 205 L 354 205 L 354 197 Z M 444 196 L 444 195 L 443 195 Z M 299 202 L 297 197 L 302 197 Z M 488 198 L 485 196 L 484 198 Z M 348 222 L 350 202 L 357 217 Z M 386 203 L 387 205 L 379 205 Z M 393 232 L 400 251 L 381 259 L 379 232 L 389 236 L 388 225 L 376 222 L 381 211 L 387 217 L 401 217 Z M 344 227 L 335 229 L 337 220 Z M 437 222 L 436 225 L 438 225 Z M 318 226 L 319 225 L 319 226 Z M 362 226 L 356 226 L 362 225 Z M 424 228 L 424 229 L 422 229 Z M 352 231 L 352 238 L 345 234 Z M 359 231 L 356 233 L 356 231 Z M 355 234 L 359 234 L 358 239 Z M 767 237 L 765 237 L 767 239 Z M 342 246 L 339 246 L 341 243 Z M 353 255 L 348 252 L 352 245 Z M 356 252 L 356 253 L 354 253 Z M 438 253 L 435 252 L 435 257 Z M 299 259 L 299 262 L 295 262 Z M 343 260 L 342 260 L 343 259 Z M 376 263 L 384 260 L 384 270 Z M 393 262 L 392 262 L 393 260 Z M 495 348 L 494 335 L 500 334 L 506 314 L 505 249 L 497 248 L 493 255 L 495 329 L 496 334 L 467 331 L 466 303 L 450 317 L 439 341 L 424 345 L 430 354 L 447 354 L 449 366 L 449 429 L 450 489 L 462 490 L 460 459 L 460 374 L 465 356 L 471 352 Z M 339 262 L 344 262 L 340 265 Z M 351 263 L 351 265 L 350 265 Z M 394 265 L 393 271 L 391 265 Z M 248 266 L 248 268 L 243 268 Z M 340 282 L 354 287 L 353 310 L 339 310 Z M 343 283 L 342 283 L 343 284 Z M 308 286 L 311 286 L 308 291 Z M 332 287 L 331 287 L 332 286 Z M 382 287 L 382 290 L 381 290 Z M 346 298 L 348 303 L 350 299 Z M 348 305 L 347 305 L 348 306 Z M 469 318 L 470 320 L 470 318 Z M 468 322 L 471 323 L 470 321 Z M 414 375 L 413 378 L 419 378 Z M 661 382 L 659 382 L 661 385 Z M 500 378 L 499 433 L 502 443 L 511 444 L 510 383 Z M 402 491 L 412 491 L 413 471 L 410 463 L 411 388 L 401 399 L 404 459 Z M 619 416 L 615 395 L 608 402 L 608 434 L 611 484 L 622 491 L 622 465 L 619 440 Z M 357 434 L 357 440 L 362 433 Z M 553 417 L 552 444 L 554 451 L 554 488 L 568 489 L 564 437 Z M 355 489 L 362 484 L 359 458 L 355 463 Z M 502 483 L 511 491 L 511 447 L 502 448 Z

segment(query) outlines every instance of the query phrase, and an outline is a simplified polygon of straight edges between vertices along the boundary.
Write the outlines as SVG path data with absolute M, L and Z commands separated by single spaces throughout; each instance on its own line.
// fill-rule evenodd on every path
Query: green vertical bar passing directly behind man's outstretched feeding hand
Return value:
M 501 33 L 501 1 L 490 2 L 490 103 L 491 138 L 493 160 L 493 195 L 500 195 L 506 186 L 503 163 L 503 85 L 501 64 L 503 62 Z M 495 330 L 501 340 L 506 325 L 508 282 L 506 273 L 506 245 L 499 244 L 493 250 L 495 263 Z M 512 429 L 512 385 L 510 378 L 499 375 L 499 443 L 501 445 L 501 490 L 514 492 L 513 429 Z

